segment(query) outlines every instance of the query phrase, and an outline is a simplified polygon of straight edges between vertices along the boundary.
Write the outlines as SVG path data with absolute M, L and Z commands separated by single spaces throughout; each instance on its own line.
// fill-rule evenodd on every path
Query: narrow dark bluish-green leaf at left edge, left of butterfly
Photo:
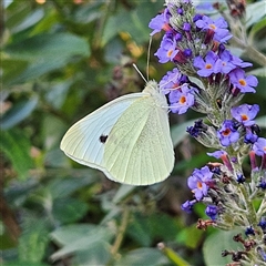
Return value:
M 32 96 L 27 100 L 21 100 L 17 102 L 0 119 L 0 127 L 2 130 L 8 130 L 22 120 L 28 117 L 38 104 L 38 98 Z

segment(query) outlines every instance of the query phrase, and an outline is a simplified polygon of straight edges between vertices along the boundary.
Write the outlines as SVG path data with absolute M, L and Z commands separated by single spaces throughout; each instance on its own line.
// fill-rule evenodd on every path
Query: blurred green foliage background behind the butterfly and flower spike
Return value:
M 185 133 L 201 115 L 193 111 L 171 115 L 176 166 L 171 177 L 152 186 L 114 183 L 96 170 L 78 165 L 59 149 L 63 134 L 79 119 L 144 88 L 132 63 L 146 75 L 147 24 L 163 3 L 0 2 L 3 265 L 202 266 L 228 260 L 219 254 L 231 249 L 232 233 L 198 231 L 197 218 L 206 218 L 204 206 L 190 215 L 180 207 L 192 198 L 186 177 L 211 160 L 209 151 Z M 249 41 L 265 53 L 262 3 L 250 6 L 247 31 Z M 157 81 L 173 68 L 160 65 L 153 57 L 161 37 L 153 38 L 149 68 L 150 79 Z M 248 54 L 244 59 L 252 61 Z M 244 101 L 260 105 L 264 134 L 265 69 L 253 63 L 259 85 Z

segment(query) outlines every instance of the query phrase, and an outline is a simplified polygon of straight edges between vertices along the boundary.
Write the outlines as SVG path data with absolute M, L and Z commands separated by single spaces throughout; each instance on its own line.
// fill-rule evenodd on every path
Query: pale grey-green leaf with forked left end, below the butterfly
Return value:
M 61 227 L 51 233 L 51 238 L 63 247 L 54 253 L 51 258 L 59 259 L 80 250 L 89 250 L 95 245 L 105 245 L 113 233 L 106 227 L 75 224 Z

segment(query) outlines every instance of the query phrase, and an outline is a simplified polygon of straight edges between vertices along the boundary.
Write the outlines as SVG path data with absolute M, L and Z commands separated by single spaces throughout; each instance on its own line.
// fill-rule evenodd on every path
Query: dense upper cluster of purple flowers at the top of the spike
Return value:
M 232 34 L 223 18 L 213 20 L 195 13 L 191 1 L 168 1 L 164 12 L 153 18 L 149 27 L 153 30 L 151 35 L 164 31 L 161 45 L 155 52 L 158 62 L 171 61 L 178 68 L 173 70 L 173 73 L 167 73 L 160 82 L 163 90 L 171 90 L 168 100 L 173 113 L 185 113 L 188 108 L 204 110 L 204 106 L 201 109 L 197 96 L 203 88 L 192 84 L 187 78 L 190 75 L 197 74 L 202 79 L 219 82 L 223 93 L 237 95 L 239 92 L 255 92 L 257 79 L 246 75 L 243 70 L 252 64 L 243 62 L 225 49 L 224 43 Z M 176 71 L 178 73 L 174 75 Z M 182 81 L 182 78 L 186 81 Z M 182 86 L 184 83 L 186 85 Z M 221 88 L 216 84 L 213 90 Z

